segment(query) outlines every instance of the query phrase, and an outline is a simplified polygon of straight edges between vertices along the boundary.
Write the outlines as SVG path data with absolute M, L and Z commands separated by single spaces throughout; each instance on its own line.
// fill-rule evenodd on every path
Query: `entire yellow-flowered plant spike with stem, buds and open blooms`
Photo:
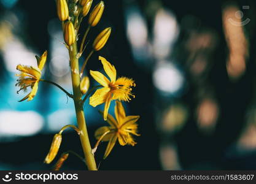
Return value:
M 132 88 L 136 86 L 134 80 L 128 77 L 117 77 L 117 71 L 114 65 L 109 63 L 109 61 L 107 61 L 107 59 L 105 59 L 103 56 L 99 56 L 99 60 L 101 61 L 101 64 L 103 64 L 103 69 L 106 72 L 107 77 L 101 74 L 101 72 L 90 70 L 91 77 L 100 85 L 90 88 L 90 78 L 86 75 L 83 76 L 83 71 L 86 68 L 90 56 L 94 52 L 101 50 L 106 45 L 107 40 L 111 35 L 110 27 L 103 29 L 103 31 L 101 31 L 101 33 L 95 37 L 93 44 L 91 45 L 91 52 L 88 52 L 88 55 L 85 56 L 82 67 L 79 69 L 79 59 L 82 58 L 85 50 L 84 45 L 88 44 L 87 35 L 91 28 L 98 25 L 104 12 L 103 1 L 96 4 L 96 6 L 90 12 L 92 4 L 93 0 L 56 0 L 56 12 L 62 24 L 64 45 L 69 51 L 73 94 L 68 93 L 68 91 L 64 90 L 64 88 L 55 82 L 41 78 L 42 69 L 44 68 L 45 61 L 47 60 L 46 51 L 40 58 L 36 56 L 37 67 L 23 66 L 21 64 L 17 66 L 17 70 L 20 71 L 20 74 L 17 74 L 17 86 L 20 87 L 20 90 L 18 91 L 26 91 L 28 87 L 31 88 L 31 92 L 20 101 L 24 101 L 25 99 L 31 101 L 34 96 L 36 96 L 39 82 L 47 82 L 55 85 L 56 87 L 60 88 L 60 90 L 64 91 L 64 93 L 66 93 L 69 98 L 72 98 L 74 101 L 74 105 L 76 107 L 77 126 L 66 125 L 58 134 L 55 134 L 50 151 L 45 158 L 45 163 L 52 163 L 53 159 L 55 159 L 56 155 L 58 155 L 58 150 L 61 146 L 62 132 L 66 128 L 72 128 L 77 132 L 77 134 L 79 134 L 85 160 L 72 151 L 64 152 L 58 159 L 58 162 L 55 164 L 55 170 L 60 169 L 64 161 L 68 159 L 69 153 L 74 153 L 74 155 L 82 158 L 82 160 L 87 163 L 89 170 L 97 170 L 94 153 L 99 145 L 99 142 L 109 142 L 104 154 L 105 159 L 109 153 L 111 153 L 111 150 L 117 140 L 120 145 L 134 146 L 136 142 L 133 136 L 139 136 L 138 125 L 136 124 L 139 116 L 126 116 L 125 109 L 123 108 L 121 102 L 129 102 L 131 98 L 135 97 L 132 93 Z M 82 25 L 83 18 L 87 15 L 87 29 L 83 34 L 81 41 L 79 41 L 80 47 L 78 47 L 79 28 Z M 110 125 L 103 126 L 96 130 L 95 137 L 98 142 L 96 142 L 95 148 L 93 149 L 91 149 L 90 146 L 85 117 L 83 114 L 83 103 L 89 96 L 89 104 L 91 106 L 96 107 L 99 104 L 104 104 L 104 112 L 100 113 L 103 115 L 104 120 Z M 114 100 L 115 118 L 108 113 L 111 101 Z

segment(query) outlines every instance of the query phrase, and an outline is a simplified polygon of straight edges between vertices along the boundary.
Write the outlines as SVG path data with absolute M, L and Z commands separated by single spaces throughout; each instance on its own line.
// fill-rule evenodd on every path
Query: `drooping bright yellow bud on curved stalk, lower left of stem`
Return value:
M 48 155 L 45 157 L 44 162 L 50 164 L 58 153 L 60 148 L 62 136 L 61 134 L 55 134 L 52 140 L 52 145 Z

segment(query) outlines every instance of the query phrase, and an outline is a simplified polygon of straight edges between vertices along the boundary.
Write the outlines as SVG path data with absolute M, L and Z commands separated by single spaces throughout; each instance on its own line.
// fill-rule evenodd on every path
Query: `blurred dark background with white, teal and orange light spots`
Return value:
M 141 116 L 141 136 L 134 147 L 117 144 L 106 160 L 107 143 L 99 145 L 99 169 L 256 169 L 256 2 L 104 2 L 103 18 L 91 29 L 88 45 L 102 29 L 111 26 L 112 33 L 88 68 L 102 70 L 101 55 L 118 75 L 135 80 L 136 98 L 125 108 L 128 115 Z M 86 28 L 87 18 L 80 33 Z M 55 1 L 0 0 L 1 170 L 51 169 L 43 161 L 53 135 L 64 125 L 76 125 L 72 100 L 55 86 L 40 83 L 30 102 L 18 102 L 25 94 L 16 93 L 17 64 L 35 66 L 34 56 L 44 50 L 43 78 L 72 91 L 62 42 Z M 103 106 L 85 104 L 92 145 L 95 130 L 107 125 L 97 109 Z M 64 131 L 58 156 L 68 150 L 83 155 L 72 129 Z M 85 166 L 69 155 L 62 169 Z

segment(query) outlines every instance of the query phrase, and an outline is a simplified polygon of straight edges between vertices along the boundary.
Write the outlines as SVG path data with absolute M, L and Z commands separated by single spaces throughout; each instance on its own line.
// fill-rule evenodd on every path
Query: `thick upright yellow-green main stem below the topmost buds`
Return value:
M 76 57 L 77 55 L 77 42 L 74 42 L 69 47 L 69 57 L 71 61 L 71 77 L 72 86 L 74 93 L 74 104 L 76 108 L 77 124 L 80 130 L 80 141 L 83 148 L 83 153 L 85 155 L 85 161 L 88 166 L 88 170 L 96 171 L 96 162 L 94 155 L 91 153 L 91 145 L 88 137 L 87 127 L 85 124 L 85 115 L 83 113 L 83 105 L 80 103 L 82 100 L 82 93 L 80 91 L 80 76 L 79 76 L 79 61 Z

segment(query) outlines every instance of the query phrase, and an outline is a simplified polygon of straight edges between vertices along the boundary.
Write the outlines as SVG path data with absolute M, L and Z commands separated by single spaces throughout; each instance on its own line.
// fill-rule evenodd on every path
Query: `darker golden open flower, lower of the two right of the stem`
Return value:
M 116 118 L 116 120 L 115 120 Z M 95 137 L 96 139 L 101 139 L 103 141 L 109 141 L 107 145 L 104 159 L 107 158 L 109 153 L 111 153 L 112 148 L 115 145 L 115 142 L 118 142 L 120 145 L 124 146 L 126 144 L 134 146 L 137 144 L 133 136 L 140 136 L 138 131 L 138 121 L 139 116 L 127 116 L 125 115 L 125 109 L 123 108 L 122 102 L 115 101 L 115 118 L 112 115 L 107 115 L 107 123 L 111 126 L 103 126 L 96 130 Z M 106 134 L 106 132 L 108 132 Z M 106 136 L 102 137 L 103 134 Z

